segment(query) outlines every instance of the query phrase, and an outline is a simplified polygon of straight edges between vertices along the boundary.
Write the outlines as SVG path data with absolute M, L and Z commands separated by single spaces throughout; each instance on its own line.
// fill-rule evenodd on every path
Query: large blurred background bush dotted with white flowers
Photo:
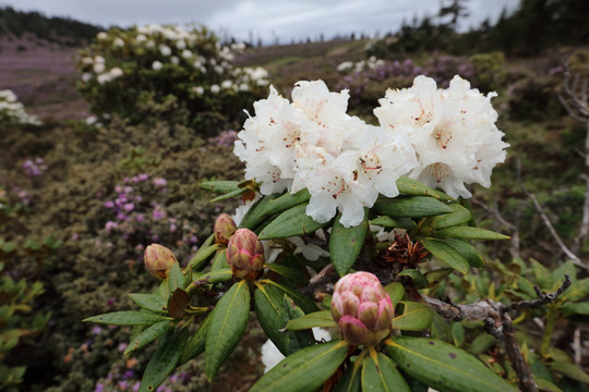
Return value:
M 80 89 L 96 114 L 117 113 L 132 122 L 145 106 L 172 102 L 188 109 L 189 125 L 205 113 L 237 118 L 262 97 L 268 74 L 233 64 L 243 44 L 221 47 L 205 27 L 147 25 L 111 28 L 80 52 Z

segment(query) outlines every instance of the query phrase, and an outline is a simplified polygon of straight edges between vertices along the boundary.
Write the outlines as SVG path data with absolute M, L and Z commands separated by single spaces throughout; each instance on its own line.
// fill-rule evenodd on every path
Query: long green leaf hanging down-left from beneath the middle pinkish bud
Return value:
M 233 284 L 219 299 L 211 317 L 205 345 L 205 373 L 208 380 L 215 377 L 245 332 L 250 317 L 248 282 Z

